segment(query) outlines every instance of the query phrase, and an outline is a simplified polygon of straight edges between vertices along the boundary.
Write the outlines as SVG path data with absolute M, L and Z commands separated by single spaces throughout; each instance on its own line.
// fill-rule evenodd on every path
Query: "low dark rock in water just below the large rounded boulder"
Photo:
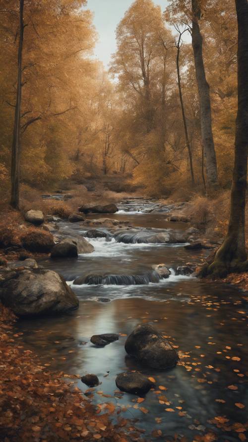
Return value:
M 118 374 L 116 385 L 121 391 L 138 395 L 145 395 L 154 386 L 147 376 L 131 371 Z

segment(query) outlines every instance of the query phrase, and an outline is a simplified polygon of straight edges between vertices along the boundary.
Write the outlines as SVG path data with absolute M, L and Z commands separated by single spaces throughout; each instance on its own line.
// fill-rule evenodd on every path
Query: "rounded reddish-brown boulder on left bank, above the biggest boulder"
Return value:
M 24 249 L 30 252 L 49 253 L 55 245 L 54 237 L 45 230 L 27 230 L 21 236 Z

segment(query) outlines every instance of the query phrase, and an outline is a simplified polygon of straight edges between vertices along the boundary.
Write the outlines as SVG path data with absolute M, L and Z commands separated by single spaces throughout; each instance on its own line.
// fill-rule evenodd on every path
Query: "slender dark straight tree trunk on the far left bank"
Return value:
M 11 155 L 11 199 L 10 204 L 15 209 L 19 208 L 19 182 L 20 182 L 20 111 L 21 111 L 21 77 L 22 77 L 22 46 L 23 46 L 23 9 L 24 0 L 19 0 L 19 47 L 18 47 L 18 74 L 14 116 L 14 130 Z

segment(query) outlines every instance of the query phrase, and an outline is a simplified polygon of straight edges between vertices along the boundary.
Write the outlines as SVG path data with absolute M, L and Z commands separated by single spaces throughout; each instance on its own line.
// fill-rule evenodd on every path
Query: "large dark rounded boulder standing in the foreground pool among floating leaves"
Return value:
M 152 368 L 174 367 L 178 354 L 164 336 L 149 324 L 138 325 L 125 342 L 125 351 Z

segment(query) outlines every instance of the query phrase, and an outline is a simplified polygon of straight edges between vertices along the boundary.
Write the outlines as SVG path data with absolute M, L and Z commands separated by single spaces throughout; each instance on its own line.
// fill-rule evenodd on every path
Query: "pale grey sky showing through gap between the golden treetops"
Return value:
M 116 27 L 132 2 L 133 0 L 88 0 L 87 8 L 95 14 L 94 25 L 99 34 L 95 56 L 106 68 L 111 60 L 111 54 L 116 51 Z M 154 0 L 154 3 L 160 5 L 164 11 L 168 1 Z

